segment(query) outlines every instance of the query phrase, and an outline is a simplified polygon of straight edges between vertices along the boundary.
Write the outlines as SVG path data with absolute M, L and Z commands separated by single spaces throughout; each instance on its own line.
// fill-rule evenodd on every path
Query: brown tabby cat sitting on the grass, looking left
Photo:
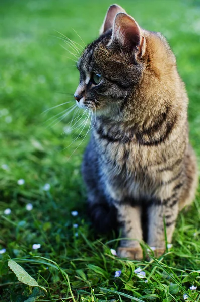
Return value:
M 97 113 L 82 165 L 94 226 L 108 232 L 120 225 L 121 257 L 142 259 L 143 240 L 159 256 L 164 225 L 171 243 L 178 212 L 197 187 L 175 55 L 160 33 L 112 5 L 77 67 L 76 103 Z

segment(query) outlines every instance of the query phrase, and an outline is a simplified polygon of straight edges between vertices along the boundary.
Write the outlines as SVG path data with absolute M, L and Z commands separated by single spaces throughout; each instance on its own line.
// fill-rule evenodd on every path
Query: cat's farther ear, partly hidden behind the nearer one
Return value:
M 104 22 L 103 22 L 103 24 L 101 26 L 101 29 L 100 29 L 100 32 L 99 32 L 100 35 L 104 34 L 108 29 L 112 28 L 114 18 L 116 16 L 116 14 L 120 13 L 120 12 L 125 13 L 124 9 L 122 9 L 117 4 L 113 4 L 108 8 L 105 19 L 104 19 Z

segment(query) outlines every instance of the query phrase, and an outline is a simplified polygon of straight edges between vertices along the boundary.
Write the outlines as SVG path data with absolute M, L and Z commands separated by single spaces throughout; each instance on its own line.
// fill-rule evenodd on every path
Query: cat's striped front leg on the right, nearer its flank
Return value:
M 178 215 L 179 197 L 172 193 L 164 200 L 153 200 L 148 206 L 148 245 L 156 248 L 156 255 L 160 256 L 165 251 L 166 225 L 167 242 L 171 243 Z

